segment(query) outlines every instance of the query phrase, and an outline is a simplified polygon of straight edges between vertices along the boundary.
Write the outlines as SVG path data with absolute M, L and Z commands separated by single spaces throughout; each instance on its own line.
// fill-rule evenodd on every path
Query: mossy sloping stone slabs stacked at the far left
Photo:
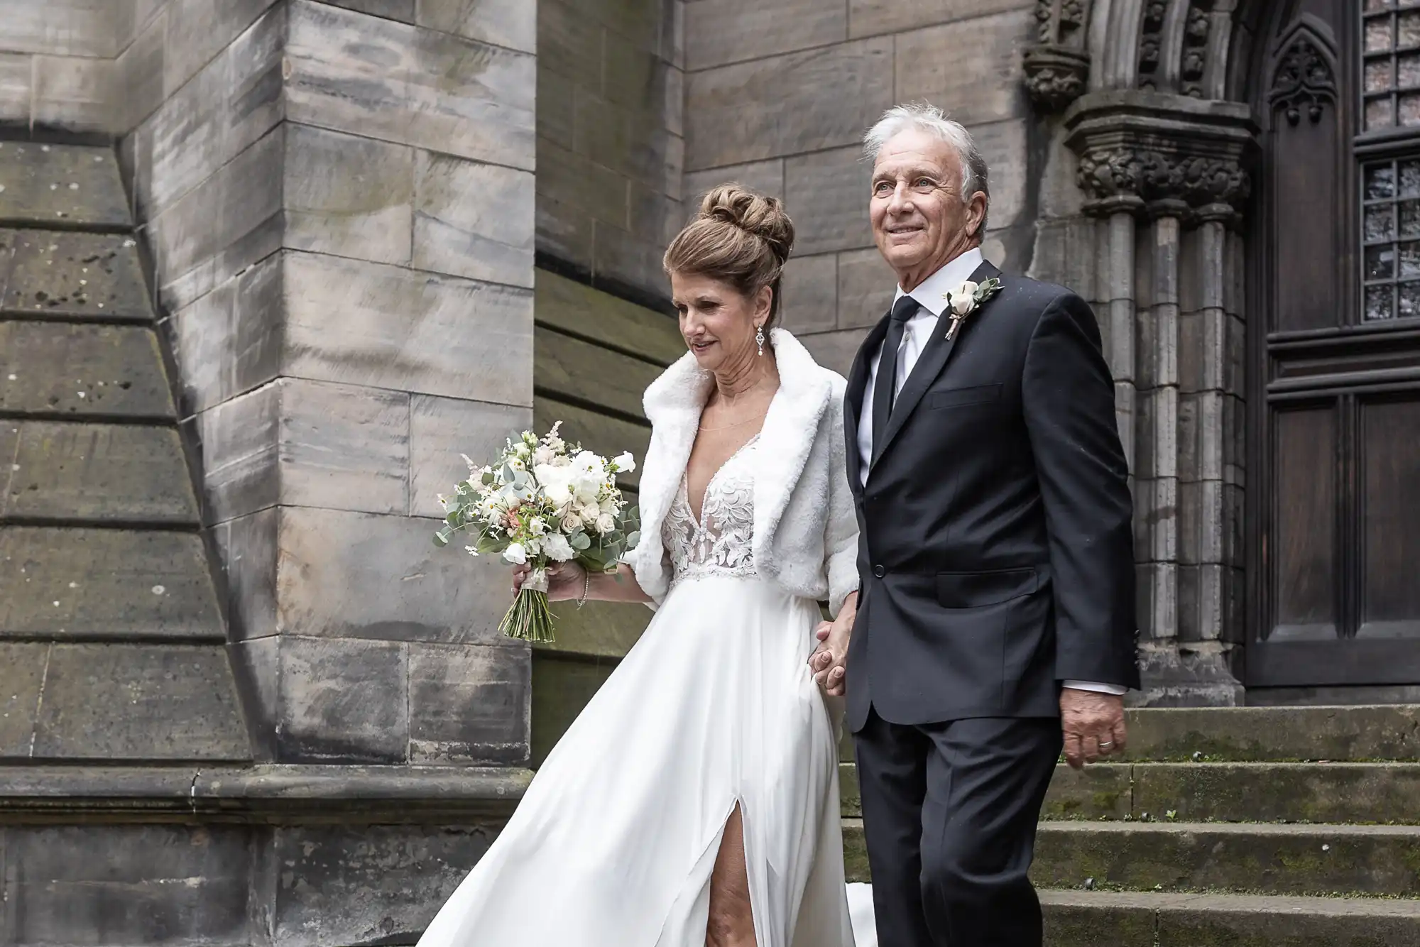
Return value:
M 0 762 L 250 738 L 111 148 L 0 141 Z

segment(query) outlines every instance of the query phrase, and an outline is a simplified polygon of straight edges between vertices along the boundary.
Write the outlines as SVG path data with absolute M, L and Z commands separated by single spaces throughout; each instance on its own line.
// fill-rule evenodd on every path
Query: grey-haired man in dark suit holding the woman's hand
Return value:
M 1120 751 L 1139 686 L 1113 382 L 1079 297 L 983 260 L 966 128 L 899 106 L 865 145 L 897 297 L 848 381 L 862 602 L 816 670 L 846 670 L 880 946 L 1039 947 L 1055 761 Z

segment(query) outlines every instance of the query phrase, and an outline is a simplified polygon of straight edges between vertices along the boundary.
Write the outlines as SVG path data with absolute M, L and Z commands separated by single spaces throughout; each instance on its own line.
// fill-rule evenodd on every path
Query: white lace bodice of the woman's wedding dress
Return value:
M 740 447 L 706 487 L 700 521 L 690 508 L 686 474 L 662 527 L 673 566 L 672 585 L 696 575 L 754 575 L 754 453 L 758 436 Z

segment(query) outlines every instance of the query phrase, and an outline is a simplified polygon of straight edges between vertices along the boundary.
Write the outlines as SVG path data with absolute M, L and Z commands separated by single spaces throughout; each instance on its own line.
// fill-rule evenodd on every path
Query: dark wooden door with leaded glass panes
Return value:
M 1278 4 L 1251 334 L 1252 686 L 1420 683 L 1420 3 Z

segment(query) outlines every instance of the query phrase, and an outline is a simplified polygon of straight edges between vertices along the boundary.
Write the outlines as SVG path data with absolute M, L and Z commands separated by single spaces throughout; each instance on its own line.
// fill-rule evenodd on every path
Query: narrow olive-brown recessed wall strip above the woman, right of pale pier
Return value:
M 684 223 L 684 0 L 540 0 L 537 250 L 653 305 Z

